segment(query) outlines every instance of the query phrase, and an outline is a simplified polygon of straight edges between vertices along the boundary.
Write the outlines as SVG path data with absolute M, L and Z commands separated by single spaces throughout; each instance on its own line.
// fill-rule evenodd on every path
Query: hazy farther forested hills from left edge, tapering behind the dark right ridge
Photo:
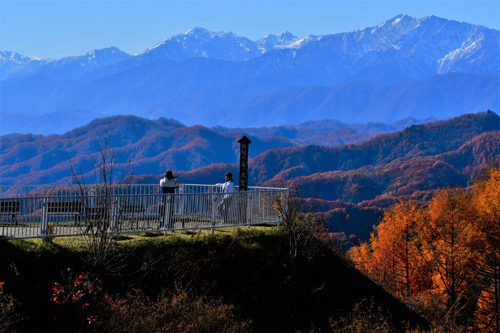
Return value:
M 76 111 L 75 111 L 76 112 Z M 427 119 L 428 120 L 428 119 Z M 112 133 L 111 144 L 121 148 L 120 165 L 132 161 L 134 174 L 159 174 L 164 169 L 193 170 L 214 163 L 234 163 L 239 140 L 252 141 L 250 157 L 271 148 L 306 144 L 359 143 L 375 133 L 395 131 L 425 120 L 403 119 L 394 124 L 349 124 L 333 120 L 265 128 L 206 128 L 166 118 L 136 116 L 98 118 L 63 135 L 7 134 L 0 136 L 0 179 L 5 184 L 64 182 L 69 159 L 89 172 L 89 154 L 98 152 L 99 136 Z

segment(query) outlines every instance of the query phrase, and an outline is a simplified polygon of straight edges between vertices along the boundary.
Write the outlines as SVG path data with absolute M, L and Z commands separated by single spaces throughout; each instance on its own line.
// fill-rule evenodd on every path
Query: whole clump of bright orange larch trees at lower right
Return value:
M 500 169 L 466 191 L 446 187 L 427 207 L 401 200 L 367 242 L 349 250 L 356 267 L 449 332 L 500 330 Z

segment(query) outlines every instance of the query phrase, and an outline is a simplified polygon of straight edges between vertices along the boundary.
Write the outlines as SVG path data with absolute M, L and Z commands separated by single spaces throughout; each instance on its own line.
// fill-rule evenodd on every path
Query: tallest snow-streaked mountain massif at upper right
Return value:
M 377 26 L 323 36 L 296 57 L 307 58 L 304 67 L 315 63 L 331 83 L 394 83 L 450 72 L 496 74 L 499 41 L 499 31 L 484 26 L 401 14 Z

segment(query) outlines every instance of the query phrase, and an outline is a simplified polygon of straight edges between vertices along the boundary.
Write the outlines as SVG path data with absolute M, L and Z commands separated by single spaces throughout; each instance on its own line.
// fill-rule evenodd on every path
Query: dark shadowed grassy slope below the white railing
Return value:
M 71 332 L 78 327 L 66 327 L 72 321 L 58 319 L 60 306 L 49 301 L 53 282 L 85 270 L 80 254 L 64 243 L 0 241 L 0 281 L 5 281 L 5 292 L 22 302 L 26 332 L 40 327 Z M 255 332 L 303 331 L 311 324 L 327 332 L 329 318 L 345 316 L 363 299 L 386 308 L 394 323 L 424 324 L 329 249 L 321 248 L 311 258 L 290 258 L 287 239 L 273 230 L 177 233 L 120 243 L 121 253 L 128 256 L 119 258 L 123 265 L 118 274 L 98 276 L 103 290 L 112 295 L 138 289 L 155 299 L 164 290 L 181 288 L 234 305 L 239 318 L 253 321 Z

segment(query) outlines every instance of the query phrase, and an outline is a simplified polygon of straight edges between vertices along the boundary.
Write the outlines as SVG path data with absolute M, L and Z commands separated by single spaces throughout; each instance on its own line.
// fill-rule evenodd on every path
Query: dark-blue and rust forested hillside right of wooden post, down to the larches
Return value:
M 250 160 L 250 184 L 298 188 L 316 199 L 331 231 L 367 239 L 381 208 L 406 197 L 424 205 L 438 188 L 467 187 L 498 156 L 500 117 L 489 111 L 411 125 L 357 145 L 270 149 Z M 187 182 L 216 180 L 224 170 L 237 173 L 237 165 L 181 175 Z

